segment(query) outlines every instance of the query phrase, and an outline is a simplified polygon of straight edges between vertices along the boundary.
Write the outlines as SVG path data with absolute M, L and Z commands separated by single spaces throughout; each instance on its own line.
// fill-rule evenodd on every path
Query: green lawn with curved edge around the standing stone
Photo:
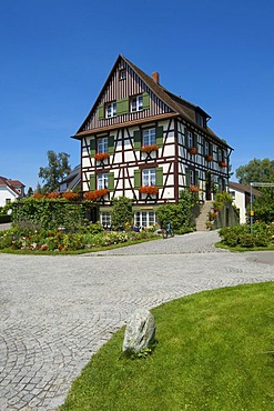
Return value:
M 124 330 L 94 354 L 60 411 L 274 410 L 274 283 L 206 291 L 152 312 L 158 344 L 121 355 Z

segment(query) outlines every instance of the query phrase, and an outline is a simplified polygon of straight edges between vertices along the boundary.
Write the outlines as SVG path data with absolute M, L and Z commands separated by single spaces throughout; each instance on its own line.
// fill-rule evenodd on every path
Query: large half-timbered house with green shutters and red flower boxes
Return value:
M 78 132 L 81 189 L 97 201 L 94 220 L 110 224 L 111 200 L 133 199 L 135 224 L 155 223 L 156 208 L 180 191 L 211 200 L 226 190 L 231 147 L 207 126 L 210 116 L 119 56 Z

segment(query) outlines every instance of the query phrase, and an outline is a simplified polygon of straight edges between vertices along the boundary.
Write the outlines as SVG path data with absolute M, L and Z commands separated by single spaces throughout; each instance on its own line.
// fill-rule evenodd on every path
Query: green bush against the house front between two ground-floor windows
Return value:
M 120 197 L 113 200 L 111 211 L 111 225 L 114 230 L 119 227 L 124 228 L 125 223 L 131 224 L 133 221 L 132 200 L 126 197 Z

